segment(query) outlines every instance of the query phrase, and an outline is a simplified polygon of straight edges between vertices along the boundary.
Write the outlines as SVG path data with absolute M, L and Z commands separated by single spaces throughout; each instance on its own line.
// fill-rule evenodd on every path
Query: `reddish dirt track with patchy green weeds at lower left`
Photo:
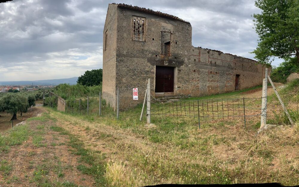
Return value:
M 0 186 L 92 186 L 93 177 L 76 169 L 81 156 L 70 137 L 56 127 L 44 113 L 0 136 Z

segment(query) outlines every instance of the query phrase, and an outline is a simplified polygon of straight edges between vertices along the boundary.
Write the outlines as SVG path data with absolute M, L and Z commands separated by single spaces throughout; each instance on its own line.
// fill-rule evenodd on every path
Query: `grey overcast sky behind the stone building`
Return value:
M 0 81 L 77 77 L 103 67 L 109 3 L 169 13 L 192 25 L 192 45 L 254 58 L 254 0 L 13 0 L 0 3 Z M 277 65 L 277 60 L 273 65 Z

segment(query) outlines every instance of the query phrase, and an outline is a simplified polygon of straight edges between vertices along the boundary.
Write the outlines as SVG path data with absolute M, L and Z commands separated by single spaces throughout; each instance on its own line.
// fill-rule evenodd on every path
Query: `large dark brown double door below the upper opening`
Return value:
M 155 92 L 173 92 L 174 67 L 156 66 Z

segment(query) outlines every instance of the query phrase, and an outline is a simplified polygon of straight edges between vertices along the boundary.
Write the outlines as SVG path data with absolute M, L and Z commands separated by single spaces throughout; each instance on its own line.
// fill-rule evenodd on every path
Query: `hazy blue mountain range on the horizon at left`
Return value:
M 51 79 L 51 80 L 34 80 L 34 81 L 0 81 L 0 85 L 58 85 L 67 83 L 70 85 L 77 84 L 78 77 L 72 77 L 68 79 Z

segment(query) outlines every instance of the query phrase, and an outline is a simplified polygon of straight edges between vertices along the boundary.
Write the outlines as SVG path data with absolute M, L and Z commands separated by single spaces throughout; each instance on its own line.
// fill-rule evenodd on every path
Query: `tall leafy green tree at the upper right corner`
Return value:
M 260 14 L 254 14 L 254 25 L 260 39 L 252 52 L 262 64 L 274 57 L 297 57 L 299 64 L 299 1 L 256 0 Z

